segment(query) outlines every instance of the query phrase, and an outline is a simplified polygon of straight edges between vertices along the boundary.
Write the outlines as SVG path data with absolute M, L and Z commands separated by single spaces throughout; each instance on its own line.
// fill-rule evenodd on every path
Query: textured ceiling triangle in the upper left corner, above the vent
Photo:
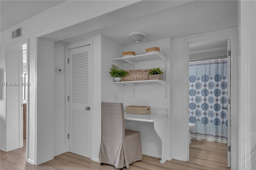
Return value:
M 1 32 L 65 0 L 0 0 Z

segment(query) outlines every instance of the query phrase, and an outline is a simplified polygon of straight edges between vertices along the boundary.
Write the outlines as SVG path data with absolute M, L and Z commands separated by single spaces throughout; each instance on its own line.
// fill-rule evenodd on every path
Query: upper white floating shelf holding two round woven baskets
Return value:
M 122 57 L 122 58 L 115 58 L 112 61 L 118 61 L 120 63 L 130 63 L 134 66 L 135 63 L 143 62 L 143 61 L 152 61 L 162 59 L 166 62 L 166 56 L 162 55 L 161 53 L 150 53 L 150 54 L 142 54 L 142 55 L 134 55 L 130 57 Z

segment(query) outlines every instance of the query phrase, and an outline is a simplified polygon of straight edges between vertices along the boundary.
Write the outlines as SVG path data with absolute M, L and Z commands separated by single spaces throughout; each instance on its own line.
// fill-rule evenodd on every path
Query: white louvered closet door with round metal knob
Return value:
M 90 158 L 90 45 L 69 50 L 69 152 Z

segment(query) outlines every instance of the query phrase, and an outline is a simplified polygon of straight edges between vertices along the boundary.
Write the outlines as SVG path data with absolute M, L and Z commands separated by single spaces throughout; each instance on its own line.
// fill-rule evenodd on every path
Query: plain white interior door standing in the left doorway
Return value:
M 22 51 L 7 50 L 6 56 L 6 151 L 23 147 Z M 21 133 L 20 133 L 21 132 Z

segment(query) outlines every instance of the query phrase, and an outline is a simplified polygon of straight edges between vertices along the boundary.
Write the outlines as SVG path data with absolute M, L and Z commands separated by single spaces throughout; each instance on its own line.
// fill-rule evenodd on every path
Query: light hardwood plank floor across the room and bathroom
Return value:
M 89 158 L 70 152 L 54 157 L 54 160 L 33 166 L 25 160 L 26 149 L 1 151 L 1 170 L 117 170 L 114 166 L 100 165 Z M 230 170 L 227 168 L 227 144 L 192 139 L 188 162 L 171 160 L 164 164 L 159 158 L 143 155 L 142 161 L 130 164 L 124 170 Z

